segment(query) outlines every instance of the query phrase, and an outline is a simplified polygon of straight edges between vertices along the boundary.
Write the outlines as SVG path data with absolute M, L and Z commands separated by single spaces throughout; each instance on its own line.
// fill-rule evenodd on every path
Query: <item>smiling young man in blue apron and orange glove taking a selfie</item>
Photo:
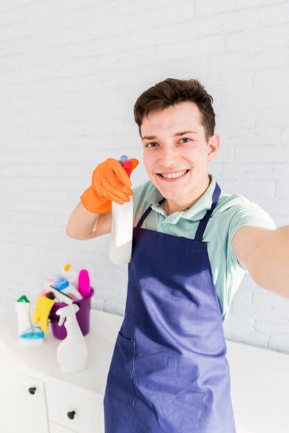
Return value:
M 220 137 L 198 80 L 167 79 L 134 105 L 150 181 L 130 189 L 110 158 L 67 224 L 91 239 L 111 229 L 112 201 L 134 194 L 125 317 L 105 390 L 106 433 L 234 433 L 222 324 L 245 272 L 288 296 L 289 228 L 220 190 L 209 174 Z M 132 158 L 132 169 L 138 161 Z

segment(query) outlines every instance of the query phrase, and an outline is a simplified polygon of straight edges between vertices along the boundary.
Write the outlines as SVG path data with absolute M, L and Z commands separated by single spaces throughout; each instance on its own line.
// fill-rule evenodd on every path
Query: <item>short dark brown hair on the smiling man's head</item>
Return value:
M 159 111 L 179 104 L 180 102 L 194 102 L 201 113 L 201 125 L 207 142 L 213 136 L 215 130 L 215 113 L 213 111 L 213 98 L 207 93 L 204 86 L 198 80 L 177 80 L 167 78 L 150 89 L 141 93 L 134 104 L 134 120 L 139 126 L 141 136 L 141 122 L 143 116 L 148 118 L 152 111 Z

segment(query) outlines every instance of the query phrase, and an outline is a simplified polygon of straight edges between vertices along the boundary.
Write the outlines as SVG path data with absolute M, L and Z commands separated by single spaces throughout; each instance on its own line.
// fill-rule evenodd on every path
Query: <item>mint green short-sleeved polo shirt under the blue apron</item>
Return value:
M 142 228 L 194 239 L 199 221 L 207 210 L 211 209 L 216 178 L 213 174 L 209 174 L 209 178 L 211 183 L 207 191 L 189 210 L 174 212 L 170 215 L 166 214 L 163 205 L 158 204 L 164 197 L 151 181 L 133 188 L 134 227 L 143 212 L 152 205 L 152 210 L 141 225 Z M 222 191 L 207 223 L 203 241 L 207 243 L 213 282 L 220 300 L 223 322 L 227 320 L 231 301 L 247 273 L 247 270 L 238 262 L 232 247 L 234 234 L 243 225 L 260 225 L 271 230 L 276 228 L 271 216 L 259 205 L 240 194 L 227 194 Z

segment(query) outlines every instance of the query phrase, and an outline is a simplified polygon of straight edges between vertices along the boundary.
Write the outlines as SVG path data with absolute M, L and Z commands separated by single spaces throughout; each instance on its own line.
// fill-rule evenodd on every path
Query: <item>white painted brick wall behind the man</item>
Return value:
M 288 12 L 278 0 L 1 0 L 2 318 L 68 261 L 89 270 L 94 307 L 123 314 L 110 237 L 74 241 L 65 227 L 97 163 L 142 159 L 132 108 L 166 77 L 197 77 L 213 95 L 223 189 L 289 223 Z M 289 353 L 289 300 L 246 276 L 225 334 Z

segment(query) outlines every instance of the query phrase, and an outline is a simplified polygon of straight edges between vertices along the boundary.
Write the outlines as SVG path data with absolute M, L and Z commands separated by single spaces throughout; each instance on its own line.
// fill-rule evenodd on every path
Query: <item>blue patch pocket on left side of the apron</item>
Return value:
M 107 376 L 105 394 L 130 406 L 134 405 L 135 396 L 132 382 L 134 356 L 135 341 L 119 332 Z

